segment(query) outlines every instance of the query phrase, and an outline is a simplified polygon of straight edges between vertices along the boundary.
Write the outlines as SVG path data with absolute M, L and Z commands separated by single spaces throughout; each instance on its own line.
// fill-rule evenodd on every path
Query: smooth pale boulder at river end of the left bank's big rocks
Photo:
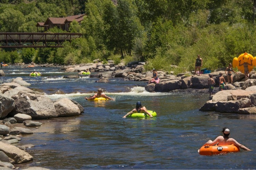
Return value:
M 62 98 L 54 103 L 58 116 L 80 115 L 79 107 L 68 98 Z

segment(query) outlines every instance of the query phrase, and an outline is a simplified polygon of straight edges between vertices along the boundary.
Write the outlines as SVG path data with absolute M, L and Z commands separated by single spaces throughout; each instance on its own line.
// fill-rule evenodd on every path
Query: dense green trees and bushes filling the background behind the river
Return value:
M 0 49 L 0 61 L 146 61 L 147 70 L 180 73 L 194 70 L 197 54 L 211 70 L 241 53 L 256 55 L 253 0 L 0 0 L 0 32 L 37 32 L 37 22 L 48 17 L 77 14 L 86 16 L 81 25 L 73 21 L 70 32 L 83 38 L 63 48 Z

